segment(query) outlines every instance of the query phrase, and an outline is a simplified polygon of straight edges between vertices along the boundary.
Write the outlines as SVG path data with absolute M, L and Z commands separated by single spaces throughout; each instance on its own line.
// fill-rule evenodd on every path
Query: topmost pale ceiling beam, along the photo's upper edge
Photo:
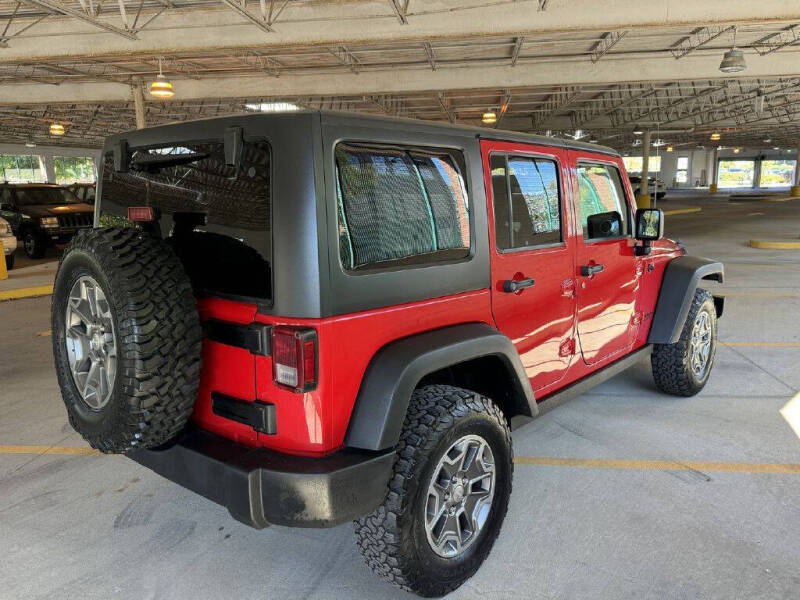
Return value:
M 45 3 L 66 6 L 55 0 L 26 2 L 38 2 L 40 6 Z M 410 36 L 434 41 L 473 36 L 522 37 L 582 31 L 630 29 L 641 32 L 669 27 L 727 27 L 734 22 L 740 26 L 749 23 L 785 26 L 800 20 L 796 3 L 786 0 L 671 0 L 668 3 L 604 0 L 602 10 L 597 10 L 596 0 L 570 0 L 551 3 L 542 12 L 531 10 L 531 2 L 522 1 L 503 4 L 503 10 L 497 10 L 495 3 L 488 2 L 462 3 L 460 7 L 454 7 L 448 0 L 426 0 L 415 9 L 411 25 L 398 22 L 387 0 L 364 0 L 358 3 L 358 10 L 354 10 L 351 2 L 292 2 L 284 11 L 289 14 L 283 17 L 279 30 L 265 36 L 265 27 L 269 27 L 267 20 L 250 10 L 246 11 L 243 20 L 239 0 L 226 0 L 226 3 L 229 9 L 222 2 L 218 9 L 208 6 L 192 10 L 167 9 L 158 17 L 157 28 L 148 27 L 136 33 L 138 40 L 130 32 L 109 26 L 105 17 L 92 17 L 79 9 L 65 8 L 76 19 L 90 23 L 93 28 L 103 27 L 106 31 L 93 31 L 63 19 L 53 19 L 52 22 L 48 19 L 24 36 L 15 37 L 10 48 L 0 52 L 0 62 L 130 52 L 170 54 L 291 45 L 327 46 L 338 45 L 343 40 L 351 45 L 388 44 L 407 41 Z M 149 12 L 143 10 L 142 18 L 150 12 L 152 9 Z M 16 20 L 21 22 L 19 15 Z

